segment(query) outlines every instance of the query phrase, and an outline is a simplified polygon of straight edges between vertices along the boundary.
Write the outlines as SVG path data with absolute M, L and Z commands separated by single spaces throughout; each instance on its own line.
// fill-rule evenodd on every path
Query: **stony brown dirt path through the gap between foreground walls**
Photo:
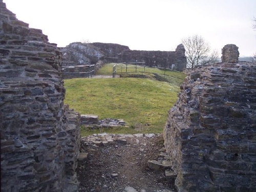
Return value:
M 174 181 L 166 181 L 163 170 L 147 167 L 148 160 L 158 159 L 162 137 L 141 135 L 95 134 L 83 138 L 81 152 L 88 153 L 88 158 L 78 161 L 79 191 L 121 192 L 127 191 L 123 190 L 126 186 L 141 192 L 175 191 Z

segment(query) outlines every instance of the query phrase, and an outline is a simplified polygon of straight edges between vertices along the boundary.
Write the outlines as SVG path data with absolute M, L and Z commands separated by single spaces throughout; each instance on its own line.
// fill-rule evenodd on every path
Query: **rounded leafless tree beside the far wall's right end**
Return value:
M 210 46 L 202 36 L 194 35 L 182 39 L 187 58 L 187 67 L 194 68 L 218 60 L 217 51 L 210 54 Z

